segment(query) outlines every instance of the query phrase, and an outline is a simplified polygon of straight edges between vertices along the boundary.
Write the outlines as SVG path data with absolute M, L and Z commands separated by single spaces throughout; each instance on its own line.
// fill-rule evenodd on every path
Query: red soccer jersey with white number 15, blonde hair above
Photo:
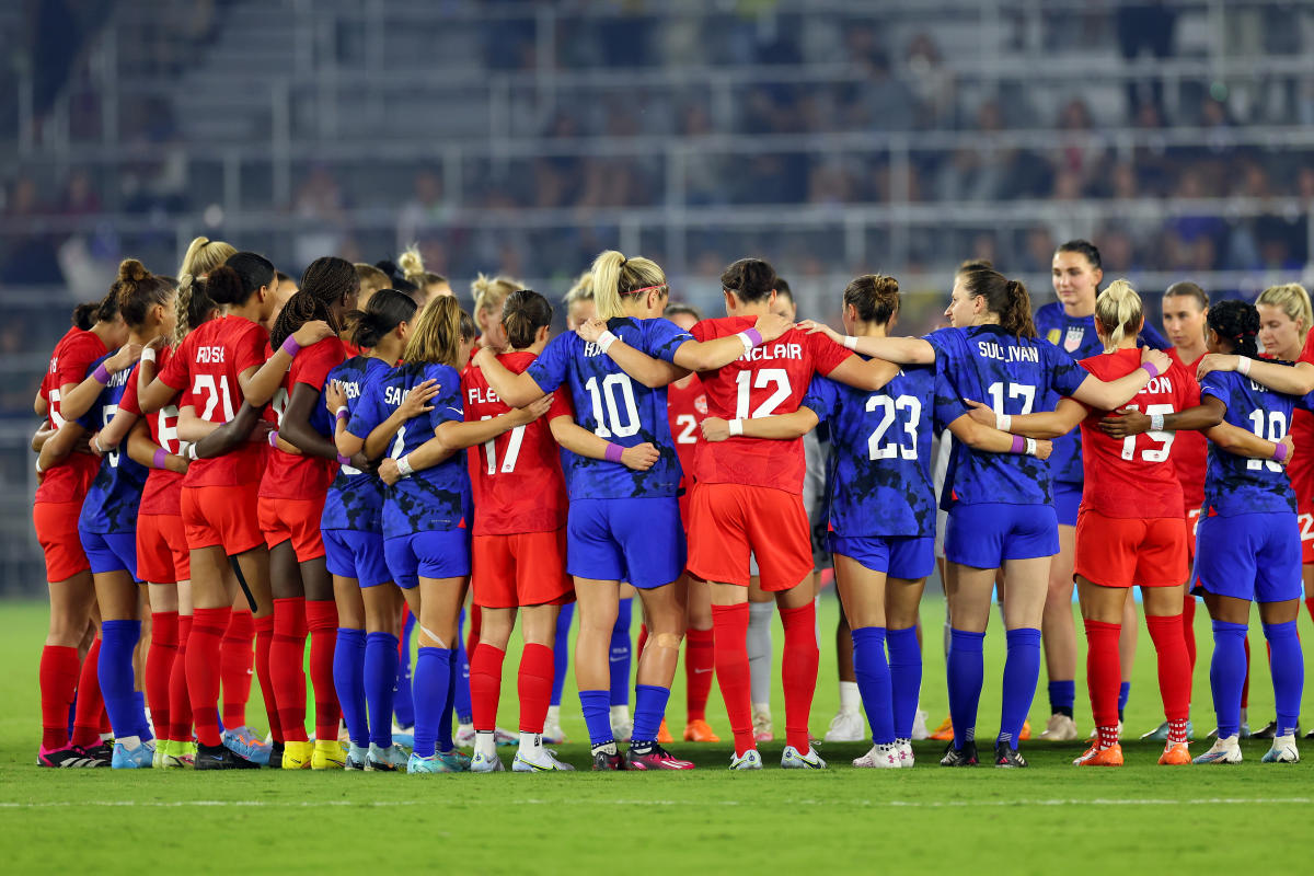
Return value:
M 1139 349 L 1120 349 L 1081 360 L 1081 366 L 1104 381 L 1141 368 Z M 1125 405 L 1144 414 L 1173 414 L 1200 405 L 1200 387 L 1181 365 L 1151 380 Z M 1144 432 L 1116 439 L 1100 429 L 1105 411 L 1081 420 L 1081 468 L 1085 487 L 1081 507 L 1106 517 L 1183 517 L 1181 485 L 1172 464 L 1175 432 Z

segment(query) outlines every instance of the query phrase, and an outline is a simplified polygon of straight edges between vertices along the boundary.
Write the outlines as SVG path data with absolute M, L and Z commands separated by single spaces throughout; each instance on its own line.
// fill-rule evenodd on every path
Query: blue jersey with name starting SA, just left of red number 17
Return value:
M 360 389 L 347 431 L 368 437 L 376 426 L 392 416 L 417 383 L 435 380 L 438 395 L 430 399 L 432 411 L 413 416 L 397 432 L 386 456 L 394 460 L 411 453 L 434 437 L 434 429 L 448 420 L 461 423 L 461 376 L 447 365 L 411 362 L 388 370 L 372 369 Z M 456 529 L 470 504 L 470 475 L 465 454 L 453 453 L 438 465 L 384 487 L 384 537 L 407 536 L 428 529 Z

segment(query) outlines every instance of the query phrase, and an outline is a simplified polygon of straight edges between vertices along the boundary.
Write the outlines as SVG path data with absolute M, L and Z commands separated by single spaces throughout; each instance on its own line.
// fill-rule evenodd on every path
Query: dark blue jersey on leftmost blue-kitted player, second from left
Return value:
M 87 373 L 92 374 L 109 356 L 105 353 L 93 361 Z M 127 381 L 135 373 L 134 369 L 125 368 L 117 374 L 110 374 L 109 382 L 100 390 L 95 403 L 78 418 L 78 424 L 88 432 L 99 432 L 109 426 L 114 412 L 118 411 L 118 402 L 124 398 Z M 126 440 L 101 457 L 100 470 L 83 502 L 78 528 L 99 535 L 137 532 L 137 512 L 142 504 L 142 487 L 146 486 L 147 474 L 145 465 L 134 462 L 127 456 Z

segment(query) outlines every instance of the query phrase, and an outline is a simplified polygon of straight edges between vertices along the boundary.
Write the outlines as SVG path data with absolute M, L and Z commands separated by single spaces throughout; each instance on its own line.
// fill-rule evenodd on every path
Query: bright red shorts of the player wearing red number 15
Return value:
M 1076 516 L 1072 574 L 1102 587 L 1176 587 L 1190 574 L 1181 517 Z

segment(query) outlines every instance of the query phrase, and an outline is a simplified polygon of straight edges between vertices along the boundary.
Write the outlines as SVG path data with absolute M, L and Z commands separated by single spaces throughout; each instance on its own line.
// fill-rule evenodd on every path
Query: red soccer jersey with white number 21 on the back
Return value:
M 209 423 L 223 424 L 242 407 L 238 374 L 264 364 L 268 332 L 242 317 L 219 317 L 197 327 L 177 348 L 159 380 L 183 390 L 183 406 L 192 405 Z M 183 479 L 189 487 L 239 486 L 260 479 L 260 444 L 242 444 L 213 460 L 196 460 Z

